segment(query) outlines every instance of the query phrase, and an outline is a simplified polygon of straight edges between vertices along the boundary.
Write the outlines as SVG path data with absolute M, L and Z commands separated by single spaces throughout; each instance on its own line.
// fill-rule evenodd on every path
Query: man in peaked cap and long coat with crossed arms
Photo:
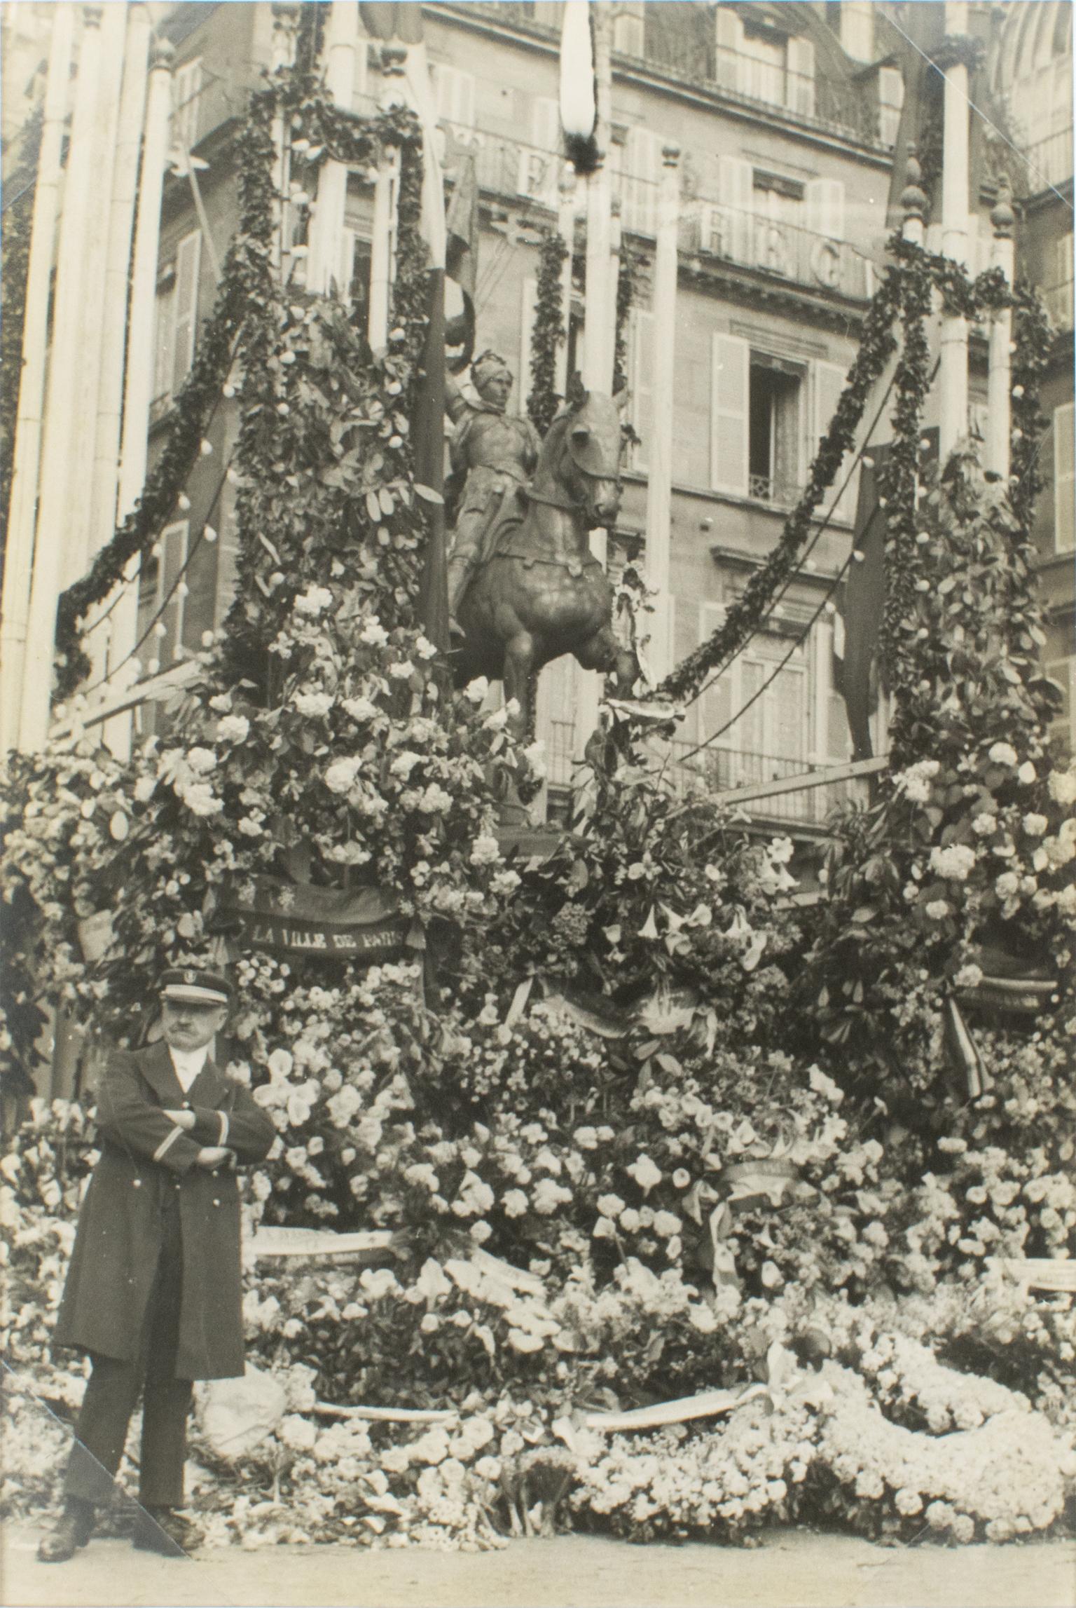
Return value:
M 127 1425 L 145 1388 L 135 1547 L 181 1557 L 201 1532 L 183 1507 L 191 1381 L 243 1373 L 239 1192 L 234 1167 L 276 1137 L 209 1050 L 230 987 L 198 966 L 161 981 L 164 1037 L 114 1050 L 98 1093 L 101 1158 L 79 1230 L 53 1344 L 93 1359 L 64 1479 L 64 1510 L 39 1549 L 61 1563 L 112 1495 Z

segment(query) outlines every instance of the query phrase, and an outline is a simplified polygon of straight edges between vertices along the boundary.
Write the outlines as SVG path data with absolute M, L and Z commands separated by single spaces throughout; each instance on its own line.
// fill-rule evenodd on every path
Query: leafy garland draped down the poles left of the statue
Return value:
M 369 166 L 385 146 L 401 150 L 395 307 L 413 341 L 418 339 L 424 269 L 424 248 L 418 236 L 421 185 L 418 119 L 410 111 L 393 109 L 371 121 L 358 121 L 328 101 L 312 74 L 281 76 L 278 82 L 252 96 L 247 121 L 238 135 L 239 230 L 225 257 L 217 299 L 199 333 L 194 362 L 175 399 L 161 457 L 146 478 L 137 507 L 96 555 L 90 571 L 59 598 L 58 698 L 71 696 L 90 669 L 80 643 L 88 611 L 122 582 L 130 560 L 145 555 L 167 523 L 201 453 L 209 418 L 239 349 L 244 373 L 249 383 L 257 386 L 252 370 L 267 351 L 267 310 L 275 297 L 270 269 L 275 201 L 270 130 L 278 111 L 289 119 L 292 140 L 297 140 L 300 132 L 310 135 L 307 161 L 315 172 L 316 164 L 329 156 L 355 166 Z

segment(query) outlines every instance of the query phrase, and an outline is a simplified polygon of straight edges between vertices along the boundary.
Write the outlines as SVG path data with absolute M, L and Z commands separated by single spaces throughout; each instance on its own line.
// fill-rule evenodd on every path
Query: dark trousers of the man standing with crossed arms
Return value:
M 169 1200 L 141 1346 L 130 1362 L 93 1357 L 93 1373 L 82 1399 L 75 1444 L 67 1463 L 64 1497 L 93 1503 L 111 1499 L 130 1415 L 145 1384 L 138 1497 L 143 1507 L 183 1507 L 191 1381 L 175 1378 L 181 1280 L 178 1200 Z

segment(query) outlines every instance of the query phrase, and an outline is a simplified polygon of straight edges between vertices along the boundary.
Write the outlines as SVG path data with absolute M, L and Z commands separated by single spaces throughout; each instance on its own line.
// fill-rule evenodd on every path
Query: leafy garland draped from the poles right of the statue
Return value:
M 899 235 L 890 241 L 890 251 L 898 259 L 886 270 L 864 323 L 859 352 L 848 370 L 837 410 L 817 450 L 806 489 L 789 515 L 781 539 L 766 563 L 747 582 L 742 595 L 731 605 L 723 624 L 707 642 L 683 659 L 654 690 L 652 698 L 691 699 L 705 679 L 719 671 L 739 653 L 744 643 L 763 627 L 766 611 L 777 592 L 789 584 L 798 558 L 811 534 L 811 521 L 825 494 L 833 484 L 842 461 L 854 447 L 856 429 L 864 413 L 870 389 L 882 375 L 890 355 L 896 351 L 896 320 L 904 330 L 904 352 L 896 373 L 898 407 L 895 416 L 895 441 L 883 474 L 882 494 L 886 505 L 890 540 L 906 553 L 907 542 L 915 535 L 915 481 L 919 470 L 919 431 L 922 408 L 930 386 L 925 317 L 930 310 L 930 293 L 941 293 L 948 312 L 975 317 L 986 310 L 1012 306 L 1017 309 L 1015 360 L 1013 360 L 1013 486 L 1010 497 L 1018 513 L 1021 529 L 1029 529 L 1031 510 L 1041 481 L 1034 474 L 1036 441 L 1042 426 L 1037 389 L 1050 351 L 1049 320 L 1037 293 L 1005 285 L 997 269 L 970 280 L 959 264 L 923 251 Z M 903 577 L 891 590 L 886 605 L 886 621 L 882 634 L 883 664 L 893 675 L 899 658 L 899 619 L 906 616 L 906 590 L 911 569 L 898 556 L 893 572 Z M 898 671 L 899 674 L 899 671 Z

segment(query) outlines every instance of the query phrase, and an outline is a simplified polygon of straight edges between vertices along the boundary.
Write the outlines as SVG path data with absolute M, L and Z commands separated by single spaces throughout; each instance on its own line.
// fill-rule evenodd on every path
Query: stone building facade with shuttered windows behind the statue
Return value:
M 271 59 L 273 10 L 267 0 L 153 8 L 175 47 L 175 64 L 151 455 L 190 370 L 217 264 L 236 227 L 234 133 Z M 1070 8 L 1060 0 L 1031 0 L 988 10 L 1002 24 L 992 58 L 1002 66 L 991 71 L 997 93 L 1009 93 L 1013 106 L 1026 100 L 1026 63 L 1036 74 L 1049 68 L 1055 101 L 1065 101 L 1057 63 L 1068 50 L 1071 130 Z M 1033 48 L 1025 37 L 1029 13 L 1055 16 L 1052 27 L 1034 32 Z M 1068 32 L 1058 21 L 1065 13 Z M 426 5 L 422 14 L 446 177 L 451 183 L 453 164 L 466 154 L 474 156 L 479 180 L 477 347 L 495 347 L 511 362 L 517 379 L 511 405 L 522 408 L 532 388 L 538 254 L 557 227 L 560 203 L 560 5 L 469 0 Z M 610 532 L 613 568 L 630 556 L 646 560 L 658 175 L 666 145 L 683 153 L 670 550 L 675 661 L 719 624 L 779 539 L 854 357 L 893 215 L 904 95 L 899 21 L 899 5 L 869 0 L 625 0 L 613 8 L 609 167 L 623 251 L 638 265 L 625 367 L 639 436 L 625 474 L 620 524 Z M 373 111 L 384 82 L 381 43 L 371 39 L 357 53 L 353 109 Z M 1049 662 L 1052 674 L 1071 682 L 1073 236 L 1071 156 L 1062 154 L 1071 153 L 1071 133 L 1065 146 L 1063 116 L 1063 108 L 1055 109 L 1049 129 L 1036 122 L 1018 137 L 1029 172 L 1055 175 L 1058 169 L 1039 190 L 1021 183 L 1018 238 L 1026 272 L 1045 286 L 1060 320 L 1068 320 L 1068 346 L 1062 339 L 1047 396 L 1054 431 L 1037 540 L 1052 611 Z M 1068 177 L 1060 178 L 1065 167 Z M 299 185 L 292 190 L 302 238 L 310 198 Z M 972 219 L 972 267 L 978 269 L 989 260 L 989 190 L 975 199 L 981 201 Z M 369 296 L 373 212 L 373 175 L 352 172 L 337 286 L 357 315 Z M 577 259 L 583 228 L 580 203 Z M 292 272 L 302 273 L 300 254 Z M 586 299 L 578 285 L 565 312 L 569 363 L 581 367 Z M 981 423 L 984 392 L 986 347 L 973 339 L 972 434 Z M 137 650 L 143 671 L 169 669 L 198 650 L 228 609 L 236 553 L 226 470 L 236 428 L 234 404 L 225 397 L 207 429 L 212 452 L 199 460 L 185 507 L 143 563 Z M 766 629 L 686 711 L 673 754 L 681 781 L 734 788 L 848 757 L 843 701 L 833 687 L 837 622 L 829 593 L 850 553 L 854 510 L 856 471 L 848 465 L 822 510 L 809 556 Z M 212 540 L 204 539 L 207 529 Z M 541 677 L 538 735 L 549 753 L 552 814 L 570 794 L 573 761 L 586 736 L 580 728 L 583 674 L 573 661 L 557 661 Z M 146 708 L 138 719 L 151 728 L 157 716 Z M 752 809 L 809 836 L 822 830 L 832 802 L 829 790 L 816 790 Z

